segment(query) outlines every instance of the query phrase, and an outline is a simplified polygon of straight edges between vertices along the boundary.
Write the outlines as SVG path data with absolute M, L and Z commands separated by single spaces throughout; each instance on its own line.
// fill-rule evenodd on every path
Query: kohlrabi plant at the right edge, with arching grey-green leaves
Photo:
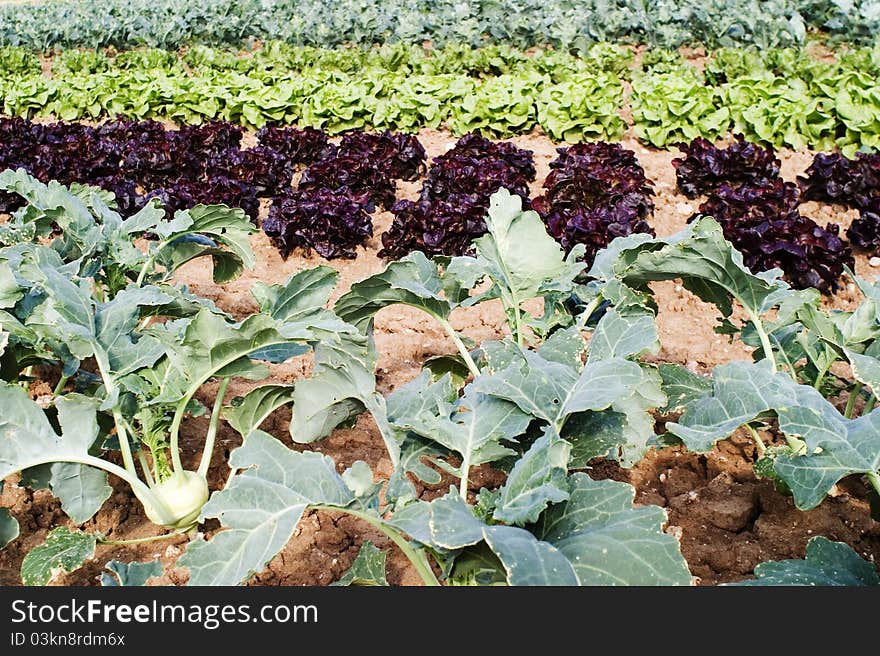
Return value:
M 614 261 L 606 267 L 612 253 Z M 746 269 L 711 218 L 670 238 L 618 240 L 601 260 L 600 269 L 635 293 L 649 294 L 651 281 L 680 279 L 718 308 L 718 332 L 739 334 L 756 347 L 755 362 L 719 365 L 711 378 L 664 366 L 664 388 L 677 393 L 669 394 L 676 403 L 668 409 L 683 411 L 677 422 L 666 424 L 673 439 L 702 453 L 745 427 L 758 451 L 757 473 L 775 479 L 797 507 L 819 505 L 840 479 L 861 474 L 872 488 L 872 514 L 880 512 L 876 284 L 856 278 L 862 304 L 854 311 L 827 312 L 816 290 L 790 289 L 778 269 L 759 274 Z M 591 273 L 600 275 L 596 268 Z M 739 325 L 731 320 L 734 304 L 747 317 Z M 832 370 L 835 364 L 848 368 Z M 760 435 L 767 430 L 778 432 L 785 444 L 767 447 Z

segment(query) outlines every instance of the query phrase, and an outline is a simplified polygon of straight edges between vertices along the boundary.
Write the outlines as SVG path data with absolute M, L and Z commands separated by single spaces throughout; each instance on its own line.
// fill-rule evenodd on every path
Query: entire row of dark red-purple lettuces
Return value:
M 153 121 L 90 127 L 3 119 L 0 168 L 101 187 L 123 216 L 158 199 L 169 218 L 197 204 L 225 204 L 256 222 L 260 199 L 268 198 L 262 228 L 284 256 L 307 248 L 327 259 L 355 257 L 373 235 L 377 208 L 394 214 L 380 256 L 464 255 L 486 233 L 489 197 L 502 187 L 530 202 L 566 253 L 585 248 L 588 263 L 615 237 L 652 232 L 646 219 L 654 190 L 635 154 L 618 144 L 560 148 L 544 193 L 529 201 L 532 152 L 477 134 L 430 168 L 413 135 L 350 131 L 333 144 L 319 130 L 270 127 L 257 132 L 251 148 L 241 147 L 242 135 L 230 123 L 170 130 Z M 838 287 L 844 267 L 853 266 L 850 245 L 838 226 L 802 216 L 804 200 L 858 209 L 846 238 L 859 251 L 880 252 L 880 156 L 818 154 L 794 184 L 780 177 L 771 150 L 741 137 L 726 148 L 698 138 L 682 150 L 673 161 L 678 188 L 690 198 L 704 196 L 691 220 L 715 217 L 753 270 L 779 267 L 801 289 Z M 422 177 L 418 200 L 397 198 L 397 180 Z M 0 195 L 0 211 L 23 204 L 19 195 Z

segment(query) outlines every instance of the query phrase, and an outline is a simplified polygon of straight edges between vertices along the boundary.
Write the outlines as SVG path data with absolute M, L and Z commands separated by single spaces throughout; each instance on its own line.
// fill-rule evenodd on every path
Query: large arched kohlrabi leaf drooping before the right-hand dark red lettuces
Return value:
M 791 293 L 779 279 L 779 270 L 757 275 L 749 271 L 742 254 L 711 218 L 699 219 L 673 237 L 621 251 L 614 273 L 637 289 L 651 281 L 680 278 L 685 288 L 713 303 L 725 318 L 733 312 L 732 299 L 759 317 Z

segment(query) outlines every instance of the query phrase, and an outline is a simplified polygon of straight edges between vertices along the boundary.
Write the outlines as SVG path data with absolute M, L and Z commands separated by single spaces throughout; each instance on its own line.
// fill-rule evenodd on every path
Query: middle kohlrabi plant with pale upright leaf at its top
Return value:
M 371 524 L 427 585 L 690 583 L 677 541 L 662 530 L 664 511 L 634 507 L 631 486 L 578 471 L 597 456 L 632 462 L 653 437 L 648 410 L 666 397 L 657 370 L 638 361 L 658 347 L 650 309 L 604 304 L 597 313 L 605 282 L 576 283 L 584 268 L 579 249 L 564 258 L 518 196 L 496 193 L 487 226 L 475 256 L 431 260 L 414 253 L 353 285 L 334 308 L 368 337 L 381 308 L 417 307 L 446 330 L 457 356 L 426 363 L 419 377 L 381 403 L 361 392 L 352 406 L 339 403 L 355 390 L 350 372 L 360 371 L 364 381 L 372 372 L 343 369 L 344 354 L 337 353 L 335 366 L 325 358 L 323 369 L 292 391 L 257 388 L 231 410 L 227 416 L 244 444 L 230 458 L 237 473 L 202 511 L 204 519 L 218 518 L 222 530 L 190 543 L 178 561 L 189 568 L 190 584 L 246 581 L 287 543 L 304 513 L 316 509 Z M 563 302 L 575 289 L 594 301 L 577 320 Z M 536 298 L 544 301 L 540 317 L 524 308 Z M 475 348 L 452 328 L 450 315 L 490 299 L 500 300 L 510 336 Z M 589 346 L 584 330 L 593 332 Z M 303 392 L 306 384 L 314 391 Z M 318 413 L 321 398 L 327 407 Z M 390 480 L 375 481 L 363 462 L 339 474 L 327 456 L 291 450 L 259 430 L 290 399 L 298 441 L 315 434 L 297 427 L 303 415 L 336 422 L 368 408 L 390 434 Z M 501 488 L 474 489 L 472 470 L 484 463 L 507 471 Z M 420 500 L 414 483 L 437 484 L 441 471 L 458 480 L 456 488 Z

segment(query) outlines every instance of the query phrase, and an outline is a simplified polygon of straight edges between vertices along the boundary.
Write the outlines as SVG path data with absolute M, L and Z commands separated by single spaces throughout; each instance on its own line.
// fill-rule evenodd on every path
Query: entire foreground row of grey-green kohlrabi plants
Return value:
M 255 286 L 259 311 L 236 322 L 171 277 L 195 257 L 214 260 L 218 281 L 250 265 L 250 224 L 240 212 L 197 207 L 165 223 L 150 204 L 125 220 L 94 189 L 12 172 L 0 185 L 28 199 L 0 235 L 0 477 L 21 472 L 21 484 L 49 487 L 74 524 L 109 496 L 106 472 L 171 534 L 218 519 L 220 530 L 193 539 L 178 560 L 191 585 L 246 582 L 313 510 L 372 525 L 427 585 L 688 584 L 677 541 L 662 530 L 665 512 L 634 507 L 632 487 L 584 470 L 597 457 L 629 466 L 649 445 L 705 452 L 739 429 L 754 438 L 756 472 L 801 509 L 845 476 L 880 491 L 880 288 L 857 279 L 862 304 L 827 312 L 815 290 L 792 290 L 778 271 L 750 272 L 712 219 L 668 238 L 616 239 L 587 267 L 583 247 L 565 256 L 538 215 L 500 190 L 473 255 L 412 253 L 353 285 L 332 311 L 335 273 L 306 270 Z M 156 240 L 141 251 L 131 239 L 144 233 Z M 668 279 L 713 303 L 725 332 L 756 347 L 754 362 L 721 365 L 710 377 L 645 362 L 660 346 L 649 283 Z M 541 316 L 524 309 L 535 298 Z M 510 336 L 474 345 L 450 314 L 489 300 L 504 307 Z M 393 304 L 427 313 L 458 353 L 424 363 L 383 397 L 371 332 L 376 313 Z M 265 363 L 307 351 L 310 376 L 226 404 L 231 379 L 265 379 Z M 27 392 L 35 374 L 56 383 L 39 403 Z M 185 417 L 206 412 L 194 399 L 210 380 L 219 389 L 204 451 L 197 468 L 187 467 L 180 431 Z M 364 462 L 339 474 L 329 457 L 262 431 L 284 405 L 298 443 L 369 412 L 392 475 L 377 480 Z M 666 427 L 659 436 L 657 416 Z M 220 421 L 242 444 L 227 483 L 209 494 Z M 507 474 L 497 489 L 471 480 L 485 463 Z M 419 499 L 414 483 L 439 482 L 438 468 L 458 485 Z M 8 513 L 0 527 L 17 533 Z M 103 541 L 55 529 L 25 558 L 22 579 L 45 583 L 52 568 L 78 567 Z M 381 582 L 382 562 L 365 545 L 347 580 Z M 110 570 L 108 581 L 121 584 L 156 573 L 154 565 Z M 824 538 L 810 543 L 805 561 L 768 563 L 756 574 L 758 584 L 877 583 L 873 565 Z

